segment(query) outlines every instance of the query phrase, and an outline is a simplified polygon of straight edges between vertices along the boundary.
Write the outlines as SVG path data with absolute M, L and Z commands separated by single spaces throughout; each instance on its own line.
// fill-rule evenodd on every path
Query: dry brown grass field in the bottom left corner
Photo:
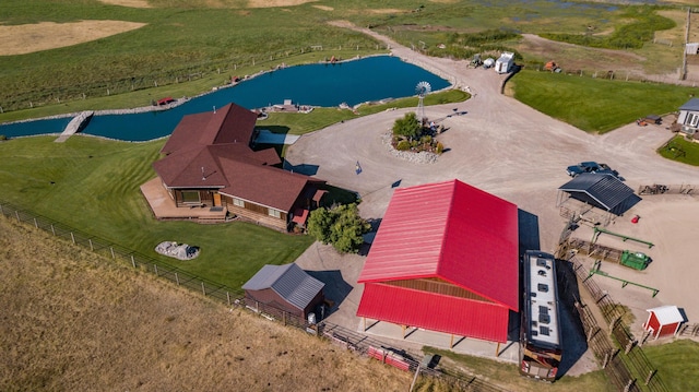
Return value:
M 405 391 L 411 375 L 0 216 L 0 391 Z

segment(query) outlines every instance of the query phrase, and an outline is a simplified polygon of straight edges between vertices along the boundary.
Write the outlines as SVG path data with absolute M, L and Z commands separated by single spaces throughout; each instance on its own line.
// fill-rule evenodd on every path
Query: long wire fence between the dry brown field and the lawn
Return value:
M 423 377 L 438 378 L 441 382 L 452 387 L 454 390 L 483 392 L 506 391 L 476 376 L 465 375 L 463 371 L 454 367 L 440 365 L 437 368 L 428 366 L 428 364 L 422 364 L 422 353 L 394 348 L 384 342 L 327 321 L 321 321 L 317 324 L 309 323 L 308 320 L 303 317 L 289 313 L 288 311 L 261 302 L 248 304 L 245 299 L 245 292 L 242 289 L 227 287 L 193 275 L 187 271 L 173 268 L 157 259 L 139 253 L 99 237 L 91 236 L 48 217 L 24 211 L 10 203 L 0 201 L 0 214 L 9 219 L 16 219 L 19 223 L 32 225 L 44 231 L 50 233 L 55 237 L 62 238 L 73 245 L 90 249 L 92 252 L 107 257 L 120 264 L 131 265 L 133 269 L 155 274 L 156 276 L 165 278 L 177 286 L 182 286 L 192 292 L 201 293 L 204 297 L 223 302 L 229 307 L 248 309 L 260 317 L 266 318 L 268 320 L 274 320 L 286 326 L 293 326 L 308 333 L 316 334 L 322 338 L 328 338 L 333 344 L 356 352 L 358 355 L 376 358 L 376 355 L 371 354 L 377 351 L 388 353 L 377 359 L 382 359 L 384 364 L 395 366 L 406 371 L 414 371 L 416 375 L 419 373 Z M 388 358 L 390 358 L 390 360 Z

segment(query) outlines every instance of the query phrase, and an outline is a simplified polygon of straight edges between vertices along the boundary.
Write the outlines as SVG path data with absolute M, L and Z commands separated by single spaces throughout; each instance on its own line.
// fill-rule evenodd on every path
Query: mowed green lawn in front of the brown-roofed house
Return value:
M 126 143 L 72 136 L 21 138 L 0 143 L 0 183 L 7 202 L 81 231 L 158 258 L 198 276 L 239 288 L 264 264 L 293 262 L 312 239 L 234 222 L 158 222 L 139 187 L 164 141 Z M 164 240 L 201 247 L 199 258 L 174 261 L 154 248 Z

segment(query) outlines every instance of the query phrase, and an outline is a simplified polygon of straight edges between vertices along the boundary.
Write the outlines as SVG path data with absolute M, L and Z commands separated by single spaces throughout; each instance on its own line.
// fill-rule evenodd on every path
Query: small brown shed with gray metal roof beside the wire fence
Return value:
M 298 265 L 264 265 L 245 285 L 246 302 L 260 304 L 306 319 L 324 300 L 324 283 L 310 276 Z

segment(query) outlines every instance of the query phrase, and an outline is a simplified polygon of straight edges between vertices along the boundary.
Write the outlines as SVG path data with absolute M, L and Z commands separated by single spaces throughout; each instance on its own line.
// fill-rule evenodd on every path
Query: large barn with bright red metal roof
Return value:
M 507 342 L 519 310 L 517 205 L 459 180 L 396 189 L 357 316 Z

